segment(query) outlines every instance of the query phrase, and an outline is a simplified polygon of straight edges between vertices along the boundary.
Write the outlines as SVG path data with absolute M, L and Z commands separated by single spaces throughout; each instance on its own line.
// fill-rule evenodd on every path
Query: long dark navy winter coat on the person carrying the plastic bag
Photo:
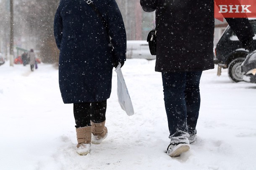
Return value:
M 104 101 L 110 97 L 112 63 L 125 61 L 126 33 L 115 0 L 94 0 L 109 27 L 85 0 L 60 0 L 54 35 L 60 49 L 59 85 L 64 103 Z

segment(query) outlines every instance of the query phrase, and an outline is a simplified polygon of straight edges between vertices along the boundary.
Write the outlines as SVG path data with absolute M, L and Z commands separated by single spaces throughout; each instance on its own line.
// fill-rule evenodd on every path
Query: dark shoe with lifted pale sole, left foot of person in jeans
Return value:
M 178 157 L 181 153 L 187 152 L 189 150 L 189 144 L 187 143 L 177 143 L 177 144 L 170 144 L 167 147 L 165 153 L 171 157 Z

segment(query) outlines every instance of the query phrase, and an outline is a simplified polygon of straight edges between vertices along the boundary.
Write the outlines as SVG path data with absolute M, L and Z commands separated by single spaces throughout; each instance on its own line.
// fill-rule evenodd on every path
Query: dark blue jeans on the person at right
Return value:
M 162 73 L 169 138 L 196 134 L 202 71 Z

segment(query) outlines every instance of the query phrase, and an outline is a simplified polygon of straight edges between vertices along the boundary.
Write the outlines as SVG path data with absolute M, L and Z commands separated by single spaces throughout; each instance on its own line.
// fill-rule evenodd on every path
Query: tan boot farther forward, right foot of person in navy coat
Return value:
M 107 127 L 105 127 L 105 122 L 106 121 L 101 123 L 91 122 L 91 143 L 100 144 L 100 142 L 107 137 Z

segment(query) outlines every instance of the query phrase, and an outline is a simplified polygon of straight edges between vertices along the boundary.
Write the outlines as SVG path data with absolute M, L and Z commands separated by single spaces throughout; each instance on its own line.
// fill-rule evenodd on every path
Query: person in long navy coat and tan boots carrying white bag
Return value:
M 89 3 L 60 0 L 54 20 L 60 92 L 65 104 L 73 103 L 76 152 L 81 155 L 89 153 L 91 142 L 99 144 L 107 137 L 104 124 L 112 69 L 118 63 L 123 66 L 126 53 L 125 27 L 115 0 L 93 1 L 108 29 Z

